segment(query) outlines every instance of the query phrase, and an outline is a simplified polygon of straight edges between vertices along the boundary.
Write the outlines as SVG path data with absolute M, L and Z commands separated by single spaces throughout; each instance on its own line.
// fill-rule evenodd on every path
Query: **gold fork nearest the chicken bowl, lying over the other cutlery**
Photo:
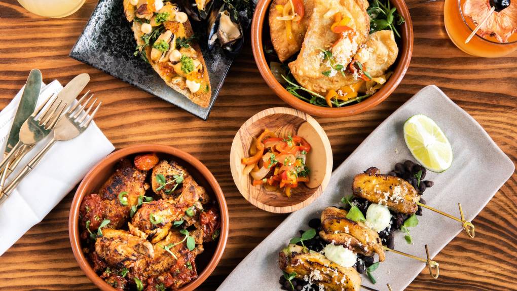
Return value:
M 92 100 L 93 94 L 88 97 L 88 99 L 81 105 L 81 102 L 87 97 L 88 94 L 83 95 L 79 101 L 68 110 L 65 115 L 60 117 L 57 120 L 57 124 L 54 128 L 54 136 L 52 139 L 34 156 L 34 158 L 28 162 L 28 164 L 23 168 L 23 170 L 16 176 L 12 182 L 0 193 L 0 205 L 4 203 L 4 201 L 8 198 L 12 190 L 18 186 L 20 181 L 30 173 L 34 167 L 41 161 L 41 158 L 49 151 L 49 149 L 58 141 L 69 141 L 74 139 L 74 137 L 79 136 L 82 132 L 84 132 L 90 122 L 92 122 L 95 114 L 100 108 L 101 101 L 98 102 L 97 106 L 97 98 L 95 98 L 92 104 L 89 105 L 88 109 L 84 111 L 86 106 Z M 90 111 L 94 108 L 92 114 L 88 116 Z

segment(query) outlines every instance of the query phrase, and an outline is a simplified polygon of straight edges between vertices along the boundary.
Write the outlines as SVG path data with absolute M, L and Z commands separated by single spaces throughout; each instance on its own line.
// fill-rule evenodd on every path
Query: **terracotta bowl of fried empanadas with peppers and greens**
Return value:
M 343 117 L 384 101 L 413 52 L 404 0 L 259 0 L 253 56 L 282 100 L 315 116 Z

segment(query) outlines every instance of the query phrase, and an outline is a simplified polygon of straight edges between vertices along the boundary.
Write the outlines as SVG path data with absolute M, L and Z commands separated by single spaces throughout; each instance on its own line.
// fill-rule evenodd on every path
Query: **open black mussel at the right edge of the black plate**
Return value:
M 237 53 L 244 43 L 244 30 L 237 10 L 224 3 L 219 10 L 212 10 L 208 19 L 208 48 L 215 47 L 216 41 L 224 50 Z

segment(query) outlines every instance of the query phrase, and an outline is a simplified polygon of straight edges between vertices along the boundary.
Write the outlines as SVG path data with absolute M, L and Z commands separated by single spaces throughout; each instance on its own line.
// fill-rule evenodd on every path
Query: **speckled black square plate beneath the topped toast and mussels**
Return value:
M 140 57 L 133 56 L 136 43 L 131 24 L 124 16 L 123 0 L 99 0 L 83 33 L 70 51 L 70 57 L 86 63 L 116 78 L 139 87 L 204 120 L 221 89 L 233 56 L 216 47 L 206 47 L 206 33 L 202 24 L 191 21 L 210 75 L 212 97 L 207 108 L 194 104 L 187 97 L 167 86 L 160 76 Z

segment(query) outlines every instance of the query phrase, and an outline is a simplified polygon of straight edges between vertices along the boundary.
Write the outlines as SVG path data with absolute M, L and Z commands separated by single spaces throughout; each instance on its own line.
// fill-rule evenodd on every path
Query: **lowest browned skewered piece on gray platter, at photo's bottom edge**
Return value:
M 279 253 L 280 269 L 296 272 L 296 278 L 323 286 L 327 291 L 359 291 L 361 277 L 353 267 L 342 267 L 316 252 L 303 252 L 302 247 L 290 244 Z

